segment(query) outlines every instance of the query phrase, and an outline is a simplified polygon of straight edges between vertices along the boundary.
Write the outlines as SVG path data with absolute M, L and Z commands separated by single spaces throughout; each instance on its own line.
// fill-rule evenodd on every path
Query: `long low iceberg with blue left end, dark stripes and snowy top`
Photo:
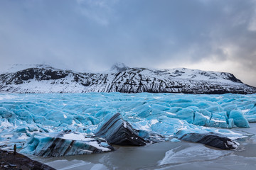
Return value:
M 63 131 L 60 133 L 34 133 L 21 149 L 21 153 L 42 157 L 62 157 L 78 154 L 110 152 L 114 148 L 107 141 L 83 134 Z

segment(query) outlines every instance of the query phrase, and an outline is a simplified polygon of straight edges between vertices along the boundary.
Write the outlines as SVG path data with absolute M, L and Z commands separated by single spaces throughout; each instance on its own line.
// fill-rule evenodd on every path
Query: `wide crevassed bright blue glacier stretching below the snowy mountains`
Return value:
M 97 131 L 119 113 L 122 127 L 131 127 L 147 143 L 214 134 L 233 140 L 235 148 L 235 140 L 247 136 L 231 129 L 250 128 L 256 122 L 255 106 L 256 94 L 0 94 L 0 147 L 16 144 L 22 153 L 35 154 L 58 139 L 66 154 L 38 155 L 110 152 L 110 143 Z M 72 141 L 84 151 L 69 150 Z

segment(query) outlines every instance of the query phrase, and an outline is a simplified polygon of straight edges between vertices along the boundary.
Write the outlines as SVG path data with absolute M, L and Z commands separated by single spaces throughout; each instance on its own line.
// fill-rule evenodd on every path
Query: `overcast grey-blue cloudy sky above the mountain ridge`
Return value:
M 231 72 L 256 86 L 255 0 L 0 0 L 0 67 Z

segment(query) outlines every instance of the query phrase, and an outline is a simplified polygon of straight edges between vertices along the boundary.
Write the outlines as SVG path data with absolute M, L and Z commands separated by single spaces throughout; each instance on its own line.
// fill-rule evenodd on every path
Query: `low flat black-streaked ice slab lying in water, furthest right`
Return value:
M 228 137 L 223 137 L 213 132 L 203 134 L 187 133 L 181 136 L 179 136 L 179 134 L 177 133 L 176 137 L 178 137 L 179 140 L 198 142 L 219 149 L 235 149 L 239 145 L 238 142 L 235 142 L 233 140 L 230 140 Z

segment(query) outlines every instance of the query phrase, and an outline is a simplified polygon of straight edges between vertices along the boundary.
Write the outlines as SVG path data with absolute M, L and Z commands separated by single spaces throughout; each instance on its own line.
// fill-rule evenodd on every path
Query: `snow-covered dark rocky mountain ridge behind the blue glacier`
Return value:
M 0 91 L 15 93 L 184 93 L 255 94 L 256 88 L 243 84 L 233 74 L 198 69 L 146 69 L 115 64 L 110 72 L 80 73 L 35 65 L 12 68 L 0 75 Z M 14 71 L 13 71 L 14 70 Z

